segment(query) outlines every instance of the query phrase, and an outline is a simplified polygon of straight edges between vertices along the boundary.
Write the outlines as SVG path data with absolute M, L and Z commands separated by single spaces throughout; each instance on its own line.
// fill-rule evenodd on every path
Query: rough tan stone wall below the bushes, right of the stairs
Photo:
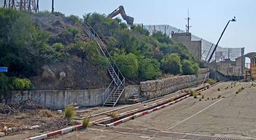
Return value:
M 206 77 L 207 75 L 207 77 Z M 191 87 L 197 84 L 201 84 L 206 77 L 209 79 L 209 73 L 200 73 L 196 75 L 183 75 L 177 77 L 163 78 L 157 80 L 149 80 L 140 82 L 141 85 L 141 96 L 147 99 L 154 99 L 173 93 L 177 90 L 182 90 L 187 87 Z

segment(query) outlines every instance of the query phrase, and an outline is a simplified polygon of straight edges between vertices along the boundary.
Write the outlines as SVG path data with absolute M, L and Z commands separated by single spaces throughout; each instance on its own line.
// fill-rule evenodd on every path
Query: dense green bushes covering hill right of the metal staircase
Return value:
M 199 71 L 198 63 L 186 46 L 161 32 L 150 36 L 146 29 L 138 26 L 130 30 L 121 19 L 106 18 L 99 13 L 88 13 L 83 18 L 107 44 L 110 54 L 128 78 L 150 80 L 162 72 L 191 75 Z

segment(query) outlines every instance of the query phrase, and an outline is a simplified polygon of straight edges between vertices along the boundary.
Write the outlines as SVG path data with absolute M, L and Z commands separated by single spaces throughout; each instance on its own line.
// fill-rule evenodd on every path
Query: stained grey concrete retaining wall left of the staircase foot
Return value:
M 80 106 L 99 106 L 107 99 L 103 98 L 106 89 L 68 90 L 68 91 L 13 91 L 6 104 L 16 101 L 33 100 L 52 109 L 64 109 L 72 102 Z

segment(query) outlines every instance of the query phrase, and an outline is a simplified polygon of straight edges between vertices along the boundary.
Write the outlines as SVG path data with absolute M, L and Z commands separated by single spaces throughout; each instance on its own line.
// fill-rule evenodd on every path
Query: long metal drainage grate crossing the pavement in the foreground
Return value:
M 153 137 L 165 137 L 165 138 L 177 138 L 177 139 L 189 139 L 189 140 L 239 140 L 232 138 L 222 138 L 222 137 L 211 137 L 203 135 L 190 135 L 190 134 L 180 134 L 180 133 L 171 133 L 171 132 L 160 132 L 160 131 L 151 131 L 151 130 L 141 130 L 133 128 L 123 128 L 123 127 L 105 127 L 105 126 L 92 126 L 90 128 L 107 130 L 112 132 L 125 132 L 130 134 L 139 134 L 139 135 L 148 135 Z

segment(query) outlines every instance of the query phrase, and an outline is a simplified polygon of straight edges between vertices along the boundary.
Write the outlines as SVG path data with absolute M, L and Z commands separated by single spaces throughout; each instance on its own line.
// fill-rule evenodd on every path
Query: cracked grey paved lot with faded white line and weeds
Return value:
M 159 111 L 119 124 L 117 127 L 256 140 L 256 87 L 249 88 L 251 83 L 245 82 L 237 83 L 233 88 L 228 85 L 229 82 L 224 82 L 203 91 L 202 101 L 199 100 L 200 96 L 196 99 L 190 97 Z M 227 86 L 229 88 L 225 90 Z M 245 90 L 236 94 L 235 92 L 242 86 L 246 87 Z M 217 90 L 218 88 L 220 91 Z M 225 98 L 217 98 L 219 94 Z M 167 138 L 82 130 L 52 139 L 164 140 Z

